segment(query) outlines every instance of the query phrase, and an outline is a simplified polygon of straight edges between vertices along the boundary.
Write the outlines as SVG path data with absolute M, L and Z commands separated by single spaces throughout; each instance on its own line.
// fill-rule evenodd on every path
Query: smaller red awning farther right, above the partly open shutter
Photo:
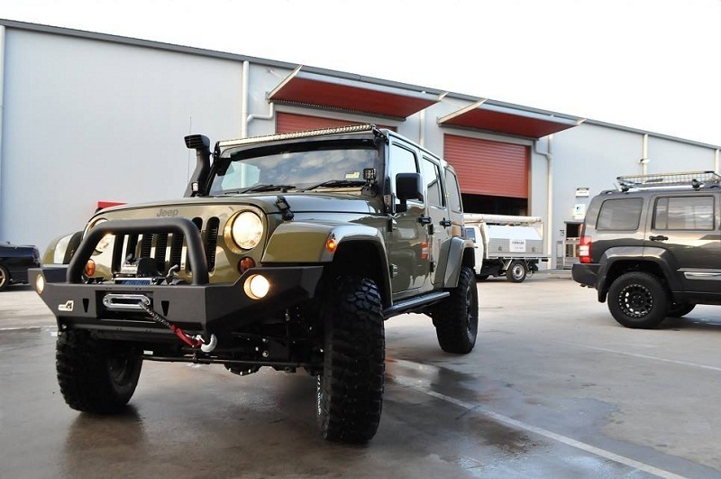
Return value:
M 580 124 L 580 118 L 546 115 L 480 100 L 438 120 L 438 124 L 539 139 Z

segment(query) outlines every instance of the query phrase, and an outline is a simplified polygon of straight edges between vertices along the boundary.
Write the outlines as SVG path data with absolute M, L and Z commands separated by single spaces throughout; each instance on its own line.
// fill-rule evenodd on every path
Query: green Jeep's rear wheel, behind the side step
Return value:
M 434 308 L 433 318 L 443 351 L 465 355 L 473 350 L 479 331 L 479 291 L 473 270 L 461 269 L 458 286 Z

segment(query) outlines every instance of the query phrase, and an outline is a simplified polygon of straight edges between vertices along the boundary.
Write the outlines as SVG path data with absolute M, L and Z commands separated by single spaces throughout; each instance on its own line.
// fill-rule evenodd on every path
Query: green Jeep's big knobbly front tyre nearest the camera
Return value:
M 318 426 L 325 439 L 364 443 L 376 435 L 383 401 L 383 309 L 374 281 L 345 277 L 338 283 L 324 313 Z

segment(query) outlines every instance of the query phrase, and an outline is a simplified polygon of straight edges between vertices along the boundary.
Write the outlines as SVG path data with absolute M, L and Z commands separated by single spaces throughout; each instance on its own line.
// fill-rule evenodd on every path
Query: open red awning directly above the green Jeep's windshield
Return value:
M 356 111 L 405 120 L 438 102 L 424 92 L 308 73 L 298 67 L 268 95 L 269 101 Z

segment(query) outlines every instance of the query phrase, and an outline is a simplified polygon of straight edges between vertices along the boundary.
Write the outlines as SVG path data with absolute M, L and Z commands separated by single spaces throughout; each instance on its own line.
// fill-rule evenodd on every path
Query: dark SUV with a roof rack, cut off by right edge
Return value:
M 625 327 L 656 327 L 721 304 L 721 177 L 618 177 L 591 200 L 573 279 L 598 290 Z

